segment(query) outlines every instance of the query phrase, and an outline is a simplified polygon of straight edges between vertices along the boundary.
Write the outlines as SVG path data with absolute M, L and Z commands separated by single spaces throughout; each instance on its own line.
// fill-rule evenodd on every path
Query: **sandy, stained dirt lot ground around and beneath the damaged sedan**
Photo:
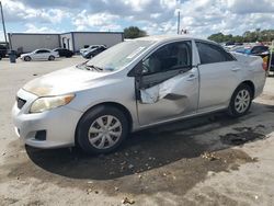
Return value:
M 10 116 L 18 89 L 81 61 L 0 61 L 0 205 L 273 205 L 274 78 L 244 117 L 144 130 L 107 156 L 21 145 Z

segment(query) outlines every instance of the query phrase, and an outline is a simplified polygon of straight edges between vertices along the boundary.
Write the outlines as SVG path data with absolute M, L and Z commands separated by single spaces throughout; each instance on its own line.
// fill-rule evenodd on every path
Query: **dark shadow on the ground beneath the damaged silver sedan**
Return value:
M 262 107 L 255 104 L 254 106 Z M 227 134 L 229 140 L 218 134 L 208 135 L 208 131 L 236 125 L 258 115 L 261 115 L 260 112 L 251 112 L 241 118 L 231 118 L 225 113 L 216 113 L 165 124 L 132 134 L 116 152 L 109 154 L 88 156 L 78 148 L 42 150 L 26 146 L 25 149 L 30 159 L 48 172 L 73 179 L 112 180 L 160 168 L 181 159 L 196 158 L 204 152 L 262 139 L 265 136 L 251 127 L 236 128 L 235 133 Z

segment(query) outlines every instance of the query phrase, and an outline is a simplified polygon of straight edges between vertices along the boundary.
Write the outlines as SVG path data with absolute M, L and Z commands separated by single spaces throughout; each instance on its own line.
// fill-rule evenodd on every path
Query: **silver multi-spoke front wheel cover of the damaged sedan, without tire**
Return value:
M 89 129 L 89 141 L 96 149 L 113 147 L 121 138 L 122 124 L 112 115 L 104 115 L 96 118 Z

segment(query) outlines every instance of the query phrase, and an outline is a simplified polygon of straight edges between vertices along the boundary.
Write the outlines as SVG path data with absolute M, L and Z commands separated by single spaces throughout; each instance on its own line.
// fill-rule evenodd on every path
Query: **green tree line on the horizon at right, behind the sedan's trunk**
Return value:
M 225 35 L 222 33 L 217 33 L 208 36 L 208 39 L 215 41 L 217 43 L 233 42 L 233 43 L 250 43 L 250 42 L 271 42 L 274 41 L 274 30 L 263 30 L 256 28 L 255 31 L 247 31 L 242 36 L 233 36 L 231 34 Z

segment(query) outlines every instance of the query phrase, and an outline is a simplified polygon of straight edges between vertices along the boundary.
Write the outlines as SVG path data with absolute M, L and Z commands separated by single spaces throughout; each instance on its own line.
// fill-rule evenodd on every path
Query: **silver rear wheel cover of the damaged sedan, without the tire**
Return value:
M 248 90 L 241 90 L 238 92 L 235 99 L 235 110 L 238 113 L 244 113 L 250 104 L 250 93 Z

